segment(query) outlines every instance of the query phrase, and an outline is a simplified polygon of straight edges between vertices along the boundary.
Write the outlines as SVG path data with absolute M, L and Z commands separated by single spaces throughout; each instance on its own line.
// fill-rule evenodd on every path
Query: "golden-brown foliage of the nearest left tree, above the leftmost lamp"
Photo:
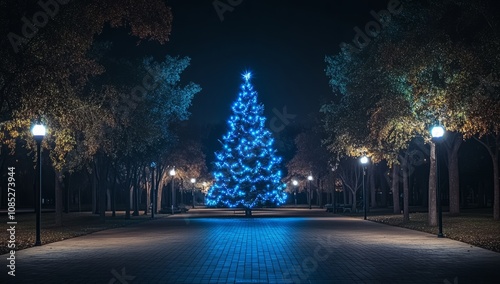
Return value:
M 103 105 L 110 91 L 89 89 L 89 80 L 106 72 L 90 53 L 95 37 L 109 25 L 129 28 L 138 40 L 165 43 L 171 29 L 170 9 L 162 1 L 106 1 L 105 5 L 71 1 L 58 5 L 57 11 L 54 8 L 44 25 L 25 28 L 23 17 L 42 10 L 36 1 L 9 2 L 4 8 L 2 142 L 11 150 L 16 141 L 31 143 L 30 126 L 41 121 L 48 127 L 44 147 L 51 150 L 58 169 L 80 165 L 98 149 L 110 147 L 103 139 L 116 123 Z M 31 33 L 25 32 L 29 29 Z M 13 44 L 7 36 L 12 33 L 26 40 Z

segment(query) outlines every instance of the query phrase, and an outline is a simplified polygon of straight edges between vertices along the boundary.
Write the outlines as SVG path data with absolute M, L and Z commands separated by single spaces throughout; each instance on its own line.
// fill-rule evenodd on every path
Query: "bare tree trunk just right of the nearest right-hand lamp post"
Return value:
M 448 179 L 449 179 L 449 195 L 450 195 L 450 215 L 458 215 L 460 213 L 460 178 L 458 169 L 458 150 L 462 145 L 463 136 L 460 133 L 453 133 L 448 152 Z M 451 141 L 450 141 L 451 140 Z

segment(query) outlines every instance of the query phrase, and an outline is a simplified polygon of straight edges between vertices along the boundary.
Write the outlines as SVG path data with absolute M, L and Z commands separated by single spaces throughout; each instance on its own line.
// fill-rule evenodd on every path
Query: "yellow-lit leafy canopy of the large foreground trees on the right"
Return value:
M 367 47 L 359 52 L 344 47 L 327 56 L 335 93 L 322 107 L 328 149 L 352 157 L 366 152 L 392 164 L 416 137 L 430 142 L 435 124 L 458 137 L 491 135 L 498 125 L 498 96 L 485 95 L 480 87 L 484 78 L 495 81 L 487 76 L 498 70 L 498 19 L 491 4 L 405 2 Z M 492 115 L 484 114 L 486 109 Z M 461 143 L 453 141 L 449 155 Z M 458 180 L 454 174 L 450 170 L 450 180 Z M 458 183 L 453 187 L 458 190 Z M 451 195 L 457 192 L 450 188 Z

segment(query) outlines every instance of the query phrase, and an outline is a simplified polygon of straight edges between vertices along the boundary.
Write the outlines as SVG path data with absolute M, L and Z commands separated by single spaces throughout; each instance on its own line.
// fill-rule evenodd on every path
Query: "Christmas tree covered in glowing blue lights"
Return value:
M 250 83 L 251 73 L 232 105 L 229 131 L 222 149 L 215 153 L 215 183 L 207 194 L 208 206 L 277 206 L 285 202 L 281 183 L 281 158 L 276 156 L 274 139 L 266 129 L 264 106 L 257 103 L 257 92 Z M 248 212 L 247 210 L 247 212 Z

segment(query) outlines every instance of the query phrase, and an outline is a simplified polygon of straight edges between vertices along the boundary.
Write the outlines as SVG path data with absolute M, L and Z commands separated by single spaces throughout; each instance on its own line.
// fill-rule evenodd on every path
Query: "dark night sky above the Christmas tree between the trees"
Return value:
M 221 21 L 212 0 L 169 0 L 173 30 L 159 52 L 192 59 L 183 78 L 203 91 L 190 109 L 191 123 L 226 121 L 245 70 L 254 74 L 268 121 L 273 108 L 285 106 L 301 120 L 332 94 L 325 55 L 350 42 L 353 28 L 363 28 L 373 20 L 370 11 L 385 9 L 388 2 L 243 0 Z

